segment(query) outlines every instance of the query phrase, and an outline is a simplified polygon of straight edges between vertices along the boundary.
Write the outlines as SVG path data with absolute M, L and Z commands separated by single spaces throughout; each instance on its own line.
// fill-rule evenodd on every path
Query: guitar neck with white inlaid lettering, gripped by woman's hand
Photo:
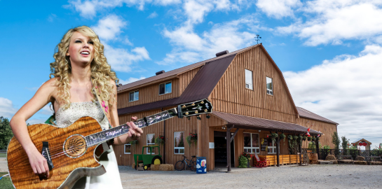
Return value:
M 170 119 L 172 117 L 177 116 L 177 109 L 170 109 L 168 111 L 163 111 L 161 113 L 156 113 L 152 116 L 144 117 L 142 119 L 136 120 L 134 123 L 139 128 L 144 128 L 149 125 L 153 125 L 154 123 L 159 123 L 163 120 Z M 126 124 L 119 125 L 118 127 L 111 128 L 110 130 L 104 130 L 102 132 L 97 132 L 95 134 L 91 134 L 86 138 L 87 146 L 95 146 L 98 144 L 102 144 L 110 139 L 114 139 L 123 134 L 127 134 L 130 127 Z

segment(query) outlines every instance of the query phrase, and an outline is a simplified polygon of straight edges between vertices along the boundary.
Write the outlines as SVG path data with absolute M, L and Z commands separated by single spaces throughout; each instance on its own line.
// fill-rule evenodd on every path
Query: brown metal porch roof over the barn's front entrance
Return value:
M 306 127 L 297 125 L 295 123 L 286 123 L 276 120 L 266 120 L 261 118 L 254 118 L 249 116 L 240 116 L 232 113 L 223 113 L 219 111 L 213 111 L 212 114 L 226 120 L 228 125 L 244 125 L 249 126 L 248 129 L 253 127 L 253 129 L 265 129 L 265 130 L 275 130 L 275 131 L 290 131 L 290 132 L 301 132 L 304 133 L 307 131 Z M 312 130 L 310 134 L 322 134 L 321 132 Z

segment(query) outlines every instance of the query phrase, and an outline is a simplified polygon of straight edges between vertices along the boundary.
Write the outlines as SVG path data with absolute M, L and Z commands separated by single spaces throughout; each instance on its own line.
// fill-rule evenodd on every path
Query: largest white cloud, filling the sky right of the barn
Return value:
M 382 46 L 360 55 L 340 55 L 301 72 L 286 71 L 296 106 L 339 123 L 340 136 L 381 143 Z M 374 147 L 374 146 L 373 146 Z

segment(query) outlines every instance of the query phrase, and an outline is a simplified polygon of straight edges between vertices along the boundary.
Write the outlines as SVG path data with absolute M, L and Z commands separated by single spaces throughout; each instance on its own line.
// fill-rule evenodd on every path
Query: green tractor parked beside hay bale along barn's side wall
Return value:
M 148 148 L 148 153 L 150 154 L 144 154 L 144 149 Z M 158 155 L 152 154 L 155 153 L 155 149 L 158 148 Z M 163 163 L 162 155 L 161 155 L 161 149 L 158 145 L 156 146 L 143 146 L 142 147 L 142 154 L 135 154 L 134 155 L 134 161 L 135 161 L 135 169 L 139 170 L 139 163 L 143 163 L 143 170 L 149 169 L 151 165 L 160 165 Z

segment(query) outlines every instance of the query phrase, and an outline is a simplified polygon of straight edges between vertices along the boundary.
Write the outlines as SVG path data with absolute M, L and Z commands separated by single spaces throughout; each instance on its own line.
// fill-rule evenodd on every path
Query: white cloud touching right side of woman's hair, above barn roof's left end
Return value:
M 150 59 L 149 52 L 144 47 L 133 48 L 131 51 L 124 48 L 113 48 L 104 43 L 105 57 L 114 71 L 130 72 L 133 62 Z

